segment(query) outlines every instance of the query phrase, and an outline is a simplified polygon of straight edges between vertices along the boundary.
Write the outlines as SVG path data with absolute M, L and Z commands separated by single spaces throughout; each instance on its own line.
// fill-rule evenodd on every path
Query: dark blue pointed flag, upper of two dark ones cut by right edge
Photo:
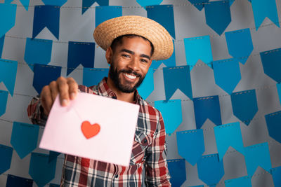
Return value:
M 277 83 L 281 83 L 281 48 L 261 52 L 263 71 Z

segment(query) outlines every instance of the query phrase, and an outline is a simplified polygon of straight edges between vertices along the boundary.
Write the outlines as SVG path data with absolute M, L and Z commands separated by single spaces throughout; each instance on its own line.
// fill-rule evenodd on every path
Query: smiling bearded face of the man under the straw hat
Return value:
M 109 78 L 115 87 L 126 93 L 134 92 L 143 82 L 152 62 L 151 46 L 141 37 L 122 39 L 122 44 L 115 50 L 107 51 L 107 61 L 110 62 Z

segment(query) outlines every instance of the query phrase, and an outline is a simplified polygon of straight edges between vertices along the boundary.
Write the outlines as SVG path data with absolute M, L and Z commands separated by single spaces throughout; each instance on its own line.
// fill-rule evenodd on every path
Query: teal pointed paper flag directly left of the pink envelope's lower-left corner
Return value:
M 37 147 L 38 134 L 39 125 L 13 122 L 11 144 L 21 159 Z

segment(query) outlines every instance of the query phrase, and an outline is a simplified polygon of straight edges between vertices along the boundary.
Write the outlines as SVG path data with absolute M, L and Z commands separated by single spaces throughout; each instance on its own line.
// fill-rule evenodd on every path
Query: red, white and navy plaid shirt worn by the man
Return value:
M 80 85 L 79 90 L 117 99 L 108 87 L 106 78 L 89 88 Z M 140 111 L 129 167 L 65 155 L 61 186 L 144 186 L 143 167 L 146 186 L 171 186 L 166 163 L 166 133 L 162 115 L 145 102 L 137 91 L 135 101 L 140 105 Z M 32 99 L 27 113 L 32 123 L 45 125 L 47 116 L 44 116 L 38 97 Z

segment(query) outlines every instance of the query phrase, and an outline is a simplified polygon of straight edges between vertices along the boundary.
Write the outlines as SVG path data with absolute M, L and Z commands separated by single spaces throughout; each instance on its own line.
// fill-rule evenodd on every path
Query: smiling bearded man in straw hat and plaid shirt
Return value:
M 157 22 L 141 16 L 107 20 L 96 27 L 93 36 L 98 46 L 106 50 L 105 57 L 110 64 L 108 78 L 87 88 L 78 86 L 73 78 L 60 77 L 42 89 L 40 98 L 32 99 L 28 115 L 32 123 L 44 125 L 55 97 L 59 94 L 60 104 L 66 106 L 77 92 L 139 104 L 131 161 L 129 167 L 122 167 L 65 155 L 61 186 L 143 186 L 143 168 L 146 186 L 171 186 L 163 118 L 136 90 L 152 60 L 164 60 L 173 53 L 171 36 Z

